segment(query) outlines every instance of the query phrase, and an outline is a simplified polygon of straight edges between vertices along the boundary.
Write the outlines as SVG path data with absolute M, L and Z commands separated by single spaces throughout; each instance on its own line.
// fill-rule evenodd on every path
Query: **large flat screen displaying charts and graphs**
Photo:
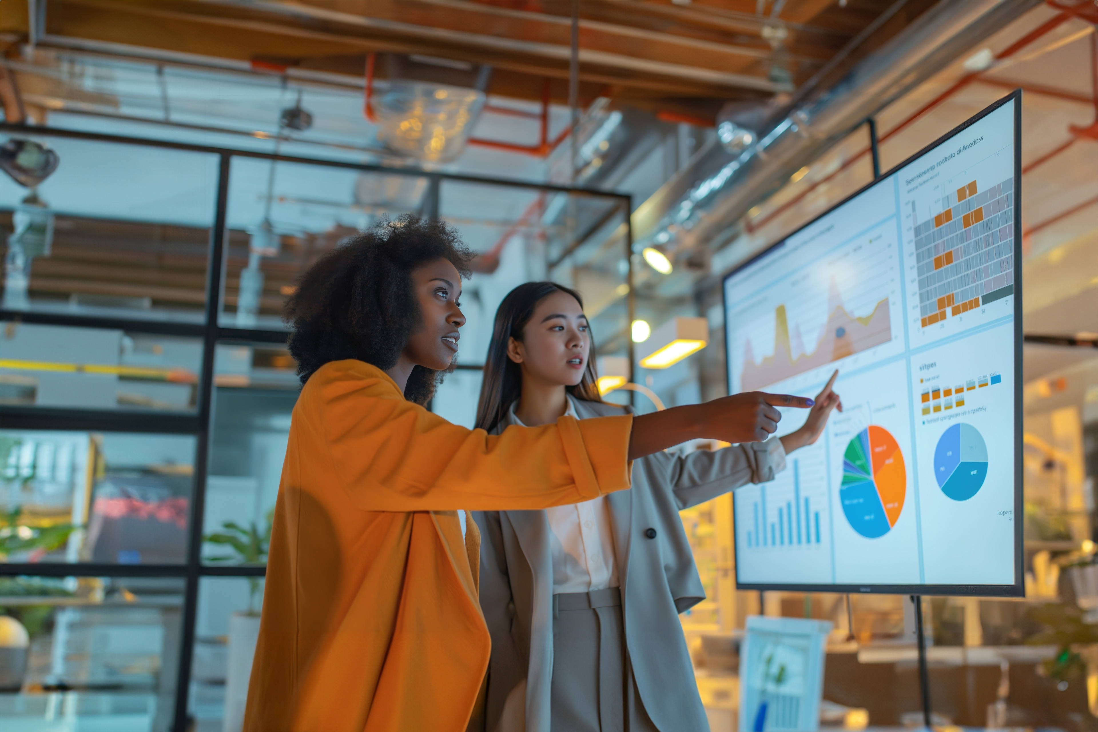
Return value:
M 735 494 L 737 586 L 1023 594 L 1021 95 L 724 281 L 729 393 L 843 412 Z M 778 435 L 804 410 L 784 410 Z

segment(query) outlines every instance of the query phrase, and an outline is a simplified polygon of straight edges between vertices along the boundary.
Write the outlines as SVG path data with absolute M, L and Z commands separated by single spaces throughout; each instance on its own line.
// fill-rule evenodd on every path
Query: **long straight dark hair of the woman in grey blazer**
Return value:
M 495 327 L 492 329 L 492 345 L 488 348 L 484 364 L 484 381 L 481 382 L 481 397 L 477 405 L 477 427 L 492 431 L 507 416 L 511 405 L 523 393 L 523 369 L 507 358 L 507 342 L 511 338 L 523 340 L 523 330 L 538 303 L 554 292 L 567 292 L 580 303 L 583 299 L 571 288 L 556 282 L 527 282 L 520 284 L 503 299 L 495 312 Z M 590 324 L 587 334 L 591 334 Z M 586 402 L 602 402 L 598 394 L 598 372 L 595 369 L 595 339 L 591 337 L 587 367 L 575 386 L 564 387 L 569 394 Z

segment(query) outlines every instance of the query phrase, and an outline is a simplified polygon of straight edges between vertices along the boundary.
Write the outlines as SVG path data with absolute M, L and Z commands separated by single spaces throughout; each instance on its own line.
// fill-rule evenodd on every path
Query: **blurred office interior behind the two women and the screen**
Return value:
M 583 294 L 607 399 L 697 403 L 727 392 L 722 274 L 1022 88 L 1027 597 L 921 600 L 930 690 L 941 723 L 1098 730 L 1096 23 L 1093 0 L 4 0 L 0 728 L 240 729 L 300 388 L 280 308 L 341 240 L 412 212 L 478 252 L 430 405 L 455 423 L 496 305 L 542 279 Z M 826 723 L 919 723 L 910 600 L 737 592 L 731 510 L 683 513 L 713 729 L 758 612 L 836 623 Z

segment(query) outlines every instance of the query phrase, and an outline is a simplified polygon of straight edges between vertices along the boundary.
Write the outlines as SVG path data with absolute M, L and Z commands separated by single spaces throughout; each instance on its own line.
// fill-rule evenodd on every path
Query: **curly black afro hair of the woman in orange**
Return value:
M 302 274 L 283 311 L 293 327 L 290 353 L 301 383 L 329 361 L 357 359 L 383 371 L 393 368 L 422 317 L 412 271 L 448 259 L 468 279 L 472 258 L 451 226 L 405 214 L 317 260 Z M 426 404 L 455 365 L 451 362 L 446 372 L 417 365 L 404 397 Z

